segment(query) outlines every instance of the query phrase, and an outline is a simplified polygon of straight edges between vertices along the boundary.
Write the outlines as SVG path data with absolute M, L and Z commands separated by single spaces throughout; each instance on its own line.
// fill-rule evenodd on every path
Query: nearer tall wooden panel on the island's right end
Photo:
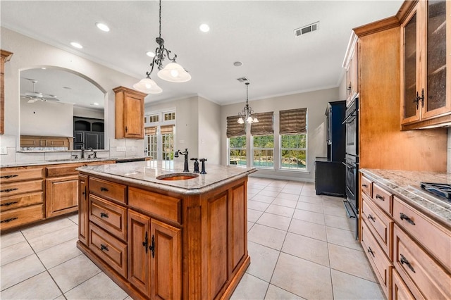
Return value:
M 228 192 L 208 200 L 207 225 L 209 241 L 207 263 L 203 272 L 208 274 L 208 299 L 215 299 L 228 280 Z

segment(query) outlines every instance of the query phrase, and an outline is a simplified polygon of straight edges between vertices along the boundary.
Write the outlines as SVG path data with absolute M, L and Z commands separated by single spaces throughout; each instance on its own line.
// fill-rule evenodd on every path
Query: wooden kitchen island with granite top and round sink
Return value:
M 253 168 L 140 161 L 78 168 L 78 248 L 133 299 L 228 299 L 244 275 Z

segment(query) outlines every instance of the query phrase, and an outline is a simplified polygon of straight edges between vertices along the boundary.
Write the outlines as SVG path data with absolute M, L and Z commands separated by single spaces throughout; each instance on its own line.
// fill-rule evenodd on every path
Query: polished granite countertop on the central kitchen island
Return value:
M 89 175 L 99 175 L 121 180 L 125 184 L 131 183 L 144 187 L 154 187 L 179 194 L 203 194 L 257 171 L 255 168 L 213 165 L 206 162 L 206 174 L 186 173 L 183 172 L 183 165 L 183 161 L 137 161 L 110 165 L 87 165 L 77 168 L 77 170 Z M 190 170 L 193 170 L 192 164 L 190 164 Z M 180 173 L 180 175 L 195 174 L 199 176 L 188 180 L 159 180 L 156 178 L 171 173 Z

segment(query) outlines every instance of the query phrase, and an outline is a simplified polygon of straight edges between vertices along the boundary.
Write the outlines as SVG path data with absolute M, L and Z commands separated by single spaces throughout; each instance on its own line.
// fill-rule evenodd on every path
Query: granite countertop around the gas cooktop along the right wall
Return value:
M 451 226 L 451 200 L 421 188 L 420 182 L 451 184 L 451 173 L 360 169 L 366 177 L 432 218 Z

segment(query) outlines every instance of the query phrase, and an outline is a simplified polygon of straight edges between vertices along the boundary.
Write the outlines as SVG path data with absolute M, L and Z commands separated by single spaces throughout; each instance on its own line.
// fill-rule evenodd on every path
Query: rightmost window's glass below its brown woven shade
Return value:
M 307 135 L 280 135 L 280 169 L 307 168 Z

